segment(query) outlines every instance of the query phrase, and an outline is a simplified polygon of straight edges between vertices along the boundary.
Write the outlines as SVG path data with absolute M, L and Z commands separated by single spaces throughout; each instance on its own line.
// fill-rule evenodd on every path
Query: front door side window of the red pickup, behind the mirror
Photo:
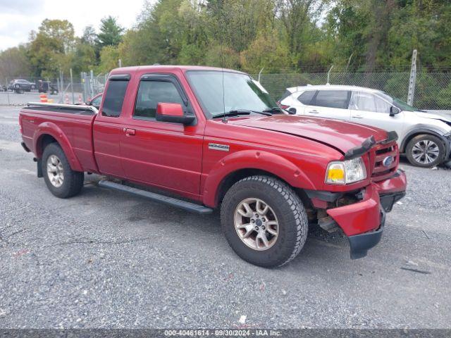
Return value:
M 154 118 L 159 102 L 184 105 L 175 84 L 168 81 L 141 81 L 136 98 L 135 116 Z

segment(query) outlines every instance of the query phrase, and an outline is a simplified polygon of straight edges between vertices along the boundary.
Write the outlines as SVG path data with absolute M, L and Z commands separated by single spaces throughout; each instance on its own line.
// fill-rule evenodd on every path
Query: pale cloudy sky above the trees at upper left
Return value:
M 101 18 L 112 15 L 126 28 L 135 25 L 145 0 L 0 0 L 0 51 L 28 41 L 31 30 L 42 20 L 66 19 L 75 35 L 92 25 L 97 30 Z M 153 2 L 153 1 L 151 1 Z

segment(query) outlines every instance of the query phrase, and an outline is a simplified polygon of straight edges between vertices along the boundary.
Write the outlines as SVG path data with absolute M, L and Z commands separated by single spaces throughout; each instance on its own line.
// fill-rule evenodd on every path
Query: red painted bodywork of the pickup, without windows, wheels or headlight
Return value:
M 264 170 L 299 189 L 351 192 L 366 189 L 364 200 L 328 209 L 348 236 L 379 226 L 379 194 L 405 190 L 405 176 L 371 178 L 376 150 L 362 156 L 367 178 L 347 185 L 324 183 L 330 161 L 373 135 L 377 142 L 387 133 L 372 127 L 338 120 L 273 115 L 207 119 L 185 77 L 187 70 L 203 67 L 152 66 L 113 70 L 128 74 L 121 116 L 108 117 L 54 113 L 24 109 L 20 113 L 23 140 L 39 158 L 39 140 L 54 137 L 70 158 L 74 170 L 91 171 L 167 189 L 206 206 L 218 205 L 218 191 L 228 175 L 237 170 Z M 221 70 L 221 69 L 218 69 Z M 142 75 L 171 74 L 180 82 L 196 123 L 184 126 L 149 118 L 134 118 L 135 98 Z M 238 72 L 239 73 L 239 72 Z M 108 91 L 109 83 L 106 85 Z M 103 102 L 102 102 L 103 104 Z M 228 146 L 226 151 L 210 144 Z M 396 169 L 399 156 L 396 152 Z M 383 179 L 383 180 L 382 180 Z M 375 182 L 373 182 L 375 181 Z

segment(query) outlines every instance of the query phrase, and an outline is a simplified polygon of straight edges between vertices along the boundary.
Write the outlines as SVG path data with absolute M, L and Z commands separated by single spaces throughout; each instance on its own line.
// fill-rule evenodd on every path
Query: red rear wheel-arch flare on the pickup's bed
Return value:
M 66 154 L 66 157 L 68 158 L 70 168 L 75 171 L 83 171 L 82 165 L 80 164 L 77 156 L 75 156 L 68 137 L 55 123 L 44 122 L 36 128 L 35 133 L 33 134 L 33 152 L 36 154 L 36 157 L 42 158 L 42 152 L 44 151 L 44 149 L 42 149 L 41 140 L 42 137 L 44 137 L 44 135 L 46 134 L 54 137 L 54 139 L 56 139 L 56 142 L 58 142 L 58 144 L 61 146 L 64 154 Z

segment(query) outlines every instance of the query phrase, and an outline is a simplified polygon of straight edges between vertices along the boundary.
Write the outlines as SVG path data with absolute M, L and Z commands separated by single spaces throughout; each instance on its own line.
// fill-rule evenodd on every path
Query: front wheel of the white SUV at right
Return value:
M 425 156 L 424 149 L 426 149 L 427 156 Z M 432 168 L 445 158 L 445 145 L 438 137 L 431 134 L 417 135 L 407 144 L 406 156 L 412 165 Z

